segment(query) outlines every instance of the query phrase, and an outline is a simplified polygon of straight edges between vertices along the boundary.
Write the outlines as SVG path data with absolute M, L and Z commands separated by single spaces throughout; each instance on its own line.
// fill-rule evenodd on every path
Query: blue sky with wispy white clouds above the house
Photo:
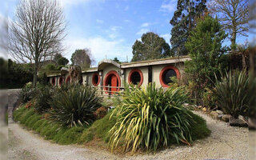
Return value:
M 2 2 L 3 1 L 3 2 Z M 18 0 L 1 0 L 0 15 L 13 18 Z M 175 0 L 59 0 L 67 21 L 64 56 L 90 48 L 97 64 L 103 58 L 132 58 L 132 46 L 147 31 L 170 43 Z M 246 38 L 239 38 L 244 42 Z M 227 39 L 227 44 L 228 44 Z

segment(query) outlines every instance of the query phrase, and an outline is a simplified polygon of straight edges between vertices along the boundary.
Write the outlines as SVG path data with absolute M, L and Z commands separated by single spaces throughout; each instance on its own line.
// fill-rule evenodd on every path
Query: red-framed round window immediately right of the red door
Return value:
M 128 82 L 134 85 L 142 86 L 142 82 L 143 82 L 142 71 L 138 69 L 130 70 L 130 73 L 128 76 Z

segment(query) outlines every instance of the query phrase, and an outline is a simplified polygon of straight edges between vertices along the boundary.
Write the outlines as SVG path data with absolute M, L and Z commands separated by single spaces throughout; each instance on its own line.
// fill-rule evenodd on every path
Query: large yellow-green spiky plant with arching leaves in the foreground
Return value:
M 124 144 L 125 150 L 157 150 L 173 142 L 190 144 L 190 112 L 182 106 L 185 91 L 177 88 L 143 88 L 126 86 L 122 103 L 113 110 L 117 118 L 111 128 L 110 147 Z

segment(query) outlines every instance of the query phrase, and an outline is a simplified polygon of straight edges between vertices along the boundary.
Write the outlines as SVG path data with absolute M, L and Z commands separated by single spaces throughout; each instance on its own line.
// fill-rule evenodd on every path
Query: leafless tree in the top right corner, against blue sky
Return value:
M 247 36 L 249 30 L 248 0 L 212 0 L 208 7 L 212 14 L 218 14 L 224 29 L 230 34 L 232 50 L 235 50 L 237 36 Z

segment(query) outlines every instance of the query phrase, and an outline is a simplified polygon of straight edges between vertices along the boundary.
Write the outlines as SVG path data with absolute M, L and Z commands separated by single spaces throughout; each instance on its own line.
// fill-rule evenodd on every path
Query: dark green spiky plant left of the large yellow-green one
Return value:
M 90 86 L 71 85 L 59 89 L 50 101 L 50 118 L 62 126 L 89 126 L 94 122 L 94 111 L 101 106 L 102 98 Z

